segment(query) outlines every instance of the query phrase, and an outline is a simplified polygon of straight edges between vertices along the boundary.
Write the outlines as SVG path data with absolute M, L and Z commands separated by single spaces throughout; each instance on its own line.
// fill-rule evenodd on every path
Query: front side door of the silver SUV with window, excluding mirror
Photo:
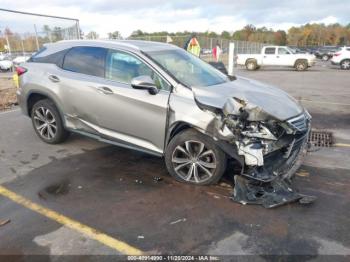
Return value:
M 148 75 L 160 89 L 156 95 L 134 89 L 134 77 Z M 137 56 L 109 50 L 105 80 L 98 83 L 96 102 L 100 132 L 117 141 L 163 153 L 170 84 Z

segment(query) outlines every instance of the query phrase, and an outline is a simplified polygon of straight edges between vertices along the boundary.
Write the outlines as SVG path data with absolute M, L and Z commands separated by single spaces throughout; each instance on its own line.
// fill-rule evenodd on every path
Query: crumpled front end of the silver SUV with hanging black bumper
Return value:
M 215 110 L 196 102 L 202 110 L 215 114 L 207 131 L 242 167 L 240 175 L 234 176 L 234 201 L 266 208 L 314 201 L 314 197 L 300 194 L 291 186 L 308 148 L 311 116 L 306 110 L 280 120 L 238 97 L 228 98 L 221 109 Z

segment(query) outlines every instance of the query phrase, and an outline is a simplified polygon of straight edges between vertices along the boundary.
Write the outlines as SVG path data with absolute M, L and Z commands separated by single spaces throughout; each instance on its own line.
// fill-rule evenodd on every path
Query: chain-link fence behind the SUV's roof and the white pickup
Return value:
M 183 36 L 139 36 L 139 37 L 129 37 L 132 40 L 145 40 L 145 41 L 155 41 L 155 42 L 168 42 L 170 44 L 176 45 L 181 48 L 185 48 L 186 42 L 191 38 L 191 35 L 183 35 Z M 265 43 L 257 43 L 257 42 L 248 42 L 248 41 L 237 41 L 237 40 L 229 40 L 221 37 L 206 37 L 206 36 L 197 36 L 196 37 L 199 45 L 201 47 L 200 58 L 207 62 L 216 61 L 213 56 L 213 48 L 216 45 L 219 45 L 222 53 L 219 56 L 219 61 L 223 62 L 224 65 L 228 66 L 228 52 L 229 52 L 229 44 L 234 43 L 234 55 L 237 54 L 258 54 L 261 52 L 263 46 L 267 45 Z

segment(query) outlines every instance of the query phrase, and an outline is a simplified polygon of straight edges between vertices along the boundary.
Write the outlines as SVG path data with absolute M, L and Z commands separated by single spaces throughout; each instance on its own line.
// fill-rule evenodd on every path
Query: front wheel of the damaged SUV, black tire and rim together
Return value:
M 186 129 L 177 134 L 165 151 L 165 163 L 177 181 L 210 185 L 219 181 L 226 169 L 227 158 L 208 136 Z

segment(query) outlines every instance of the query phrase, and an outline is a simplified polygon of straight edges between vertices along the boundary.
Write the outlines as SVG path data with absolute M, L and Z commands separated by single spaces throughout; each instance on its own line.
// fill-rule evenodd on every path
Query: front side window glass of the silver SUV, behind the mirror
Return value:
M 106 59 L 106 78 L 130 84 L 134 77 L 150 76 L 158 89 L 170 90 L 170 85 L 137 57 L 121 51 L 109 50 Z

